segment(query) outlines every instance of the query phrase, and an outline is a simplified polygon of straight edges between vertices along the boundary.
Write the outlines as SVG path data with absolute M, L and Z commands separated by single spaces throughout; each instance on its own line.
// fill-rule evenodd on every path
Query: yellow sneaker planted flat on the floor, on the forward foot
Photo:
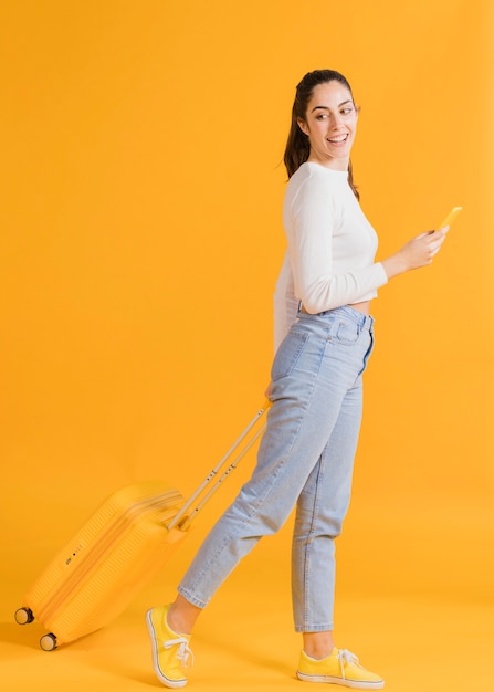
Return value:
M 380 690 L 385 681 L 370 673 L 358 658 L 346 649 L 333 649 L 325 659 L 313 659 L 302 651 L 297 678 L 306 682 L 333 682 L 356 690 Z

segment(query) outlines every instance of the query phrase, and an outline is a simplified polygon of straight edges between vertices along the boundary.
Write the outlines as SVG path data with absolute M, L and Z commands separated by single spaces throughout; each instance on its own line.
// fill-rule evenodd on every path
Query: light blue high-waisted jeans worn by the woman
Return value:
M 240 559 L 281 528 L 296 505 L 295 630 L 333 630 L 334 541 L 350 500 L 372 326 L 372 317 L 349 306 L 298 313 L 273 363 L 257 464 L 179 585 L 191 604 L 204 608 Z

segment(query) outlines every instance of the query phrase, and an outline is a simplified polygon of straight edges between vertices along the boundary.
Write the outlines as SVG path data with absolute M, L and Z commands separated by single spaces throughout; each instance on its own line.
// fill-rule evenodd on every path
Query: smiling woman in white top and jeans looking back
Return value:
M 297 677 L 357 689 L 382 679 L 333 639 L 334 542 L 351 487 L 361 418 L 361 376 L 372 349 L 370 302 L 390 279 L 425 266 L 448 229 L 412 239 L 376 263 L 377 237 L 358 203 L 350 150 L 358 109 L 338 72 L 318 70 L 296 90 L 285 150 L 287 253 L 276 286 L 272 407 L 257 465 L 213 527 L 170 606 L 147 612 L 154 668 L 167 686 L 187 683 L 193 625 L 216 590 L 296 505 L 292 591 L 303 636 Z

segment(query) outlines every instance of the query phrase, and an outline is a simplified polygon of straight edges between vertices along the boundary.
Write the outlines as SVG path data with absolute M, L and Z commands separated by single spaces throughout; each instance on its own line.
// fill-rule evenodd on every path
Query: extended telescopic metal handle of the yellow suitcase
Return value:
M 248 427 L 243 430 L 240 437 L 233 442 L 231 448 L 224 454 L 224 457 L 220 460 L 220 462 L 212 469 L 196 492 L 189 497 L 186 504 L 181 507 L 181 510 L 174 516 L 171 522 L 168 524 L 167 528 L 170 531 L 174 527 L 180 528 L 180 531 L 187 531 L 190 524 L 193 522 L 196 516 L 202 510 L 204 504 L 211 499 L 211 496 L 217 492 L 220 485 L 225 481 L 225 479 L 230 475 L 230 473 L 237 469 L 240 460 L 248 453 L 254 442 L 262 436 L 266 428 L 266 423 L 264 423 L 261 428 L 259 428 L 254 434 L 245 442 L 244 447 L 241 448 L 242 442 L 245 440 L 252 428 L 254 428 L 255 423 L 261 420 L 267 409 L 271 407 L 271 401 L 266 399 L 262 407 L 257 410 L 254 418 L 248 424 Z M 240 451 L 239 451 L 240 450 Z M 231 459 L 231 457 L 238 451 L 234 460 L 229 464 L 229 466 L 223 471 L 221 475 L 221 469 L 224 466 L 227 461 Z M 206 494 L 204 494 L 206 493 Z M 202 495 L 202 497 L 201 497 Z M 196 503 L 196 505 L 195 505 Z M 193 506 L 193 508 L 191 508 Z

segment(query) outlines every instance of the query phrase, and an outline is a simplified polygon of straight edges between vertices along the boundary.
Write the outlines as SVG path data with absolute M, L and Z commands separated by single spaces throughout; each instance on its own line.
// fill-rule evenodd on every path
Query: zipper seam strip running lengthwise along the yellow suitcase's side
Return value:
M 174 500 L 181 500 L 181 495 L 176 493 Z M 67 579 L 63 583 L 61 588 L 53 594 L 49 600 L 41 606 L 39 612 L 36 614 L 38 618 L 41 621 L 49 621 L 50 618 L 53 619 L 56 611 L 66 602 L 71 593 L 73 593 L 77 585 L 84 579 L 91 569 L 93 569 L 105 554 L 108 552 L 108 548 L 118 539 L 118 537 L 125 532 L 127 526 L 133 522 L 135 517 L 143 513 L 143 510 L 151 512 L 153 510 L 157 510 L 162 506 L 166 508 L 170 503 L 170 495 L 167 493 L 166 495 L 158 495 L 153 501 L 143 500 L 141 502 L 133 505 L 129 510 L 125 512 L 125 514 L 114 522 L 111 528 L 97 541 L 92 548 L 88 549 L 87 554 L 82 557 L 81 563 L 72 575 L 67 577 Z M 165 530 L 165 525 L 164 525 Z

